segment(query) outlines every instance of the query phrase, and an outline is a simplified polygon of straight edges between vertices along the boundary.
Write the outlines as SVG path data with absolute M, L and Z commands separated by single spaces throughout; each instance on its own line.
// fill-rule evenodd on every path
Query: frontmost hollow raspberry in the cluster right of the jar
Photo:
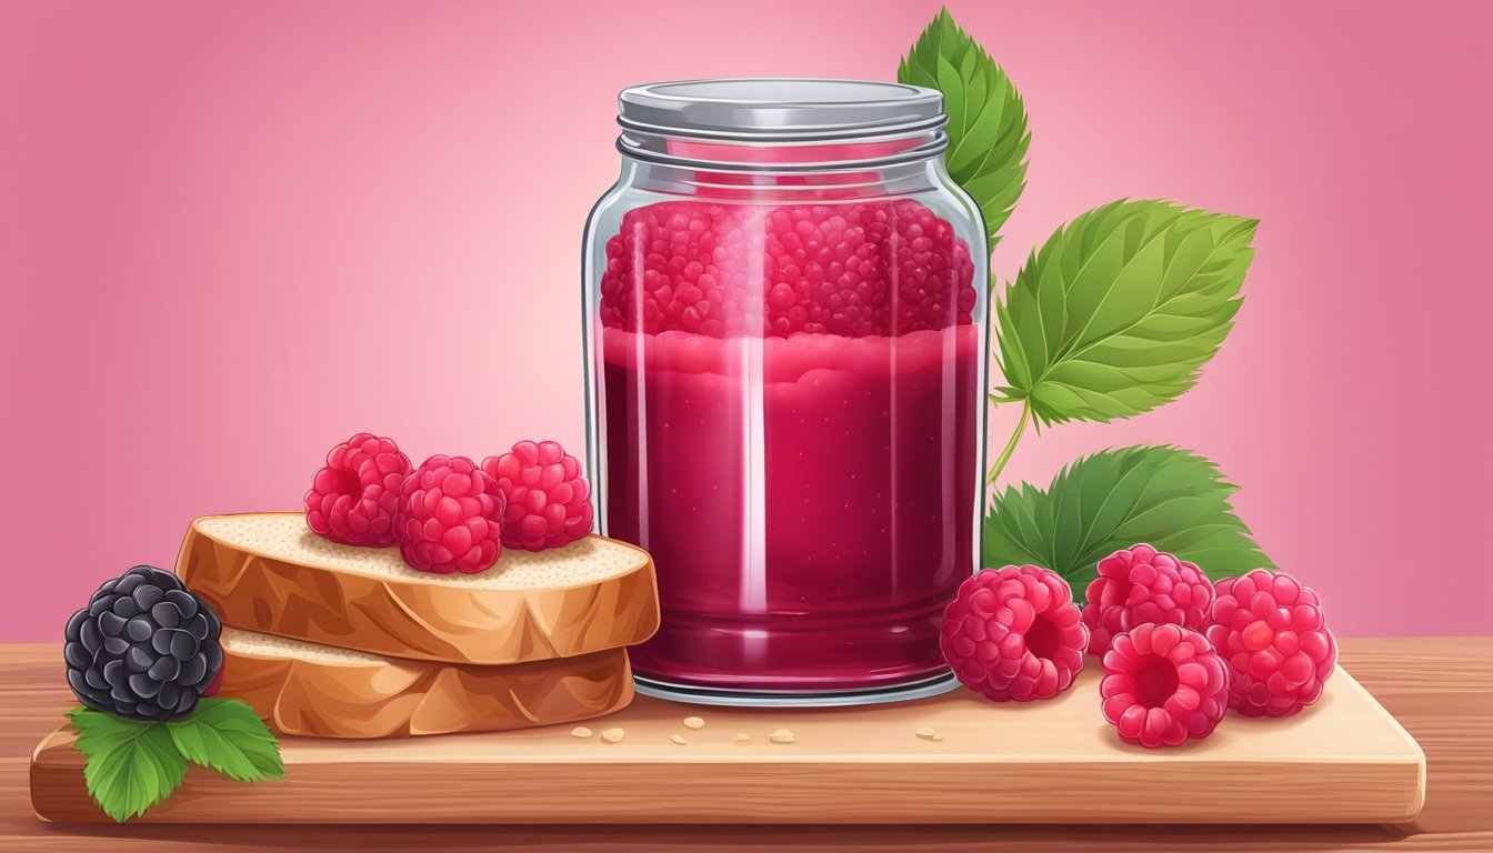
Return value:
M 1229 705 L 1229 666 L 1208 638 L 1178 624 L 1147 623 L 1115 636 L 1103 668 L 1105 719 L 1132 744 L 1205 738 Z

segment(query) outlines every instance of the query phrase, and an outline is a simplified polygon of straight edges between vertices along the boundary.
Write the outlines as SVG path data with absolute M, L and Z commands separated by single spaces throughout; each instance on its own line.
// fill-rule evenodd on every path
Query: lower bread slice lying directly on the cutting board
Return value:
M 287 735 L 397 738 L 523 729 L 624 708 L 621 648 L 511 666 L 399 660 L 222 629 L 218 696 L 242 699 Z

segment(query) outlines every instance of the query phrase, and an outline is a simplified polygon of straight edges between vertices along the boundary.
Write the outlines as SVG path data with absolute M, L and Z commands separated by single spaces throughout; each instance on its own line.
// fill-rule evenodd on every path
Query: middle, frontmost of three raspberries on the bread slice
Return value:
M 423 572 L 481 572 L 503 553 L 506 505 L 497 481 L 470 459 L 431 456 L 400 487 L 399 553 Z

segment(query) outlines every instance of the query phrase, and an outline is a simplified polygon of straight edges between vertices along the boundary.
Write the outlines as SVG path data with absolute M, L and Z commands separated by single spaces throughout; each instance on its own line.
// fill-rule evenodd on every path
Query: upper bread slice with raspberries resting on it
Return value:
M 505 548 L 485 572 L 437 575 L 397 548 L 328 542 L 299 512 L 209 515 L 188 529 L 176 574 L 225 624 L 391 657 L 551 660 L 658 627 L 648 553 L 602 536 Z

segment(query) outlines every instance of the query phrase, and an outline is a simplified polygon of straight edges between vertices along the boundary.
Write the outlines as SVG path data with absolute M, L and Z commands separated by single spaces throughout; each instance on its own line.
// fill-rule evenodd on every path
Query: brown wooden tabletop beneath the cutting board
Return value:
M 554 828 L 348 828 L 348 826 L 64 826 L 31 814 L 25 762 L 69 705 L 55 647 L 0 651 L 7 698 L 0 729 L 0 850 L 346 849 L 396 850 L 1489 850 L 1493 849 L 1493 639 L 1345 641 L 1342 660 L 1421 742 L 1429 762 L 1426 810 L 1414 823 L 1354 826 L 554 826 Z M 673 713 L 670 710 L 670 713 Z M 829 711 L 826 716 L 839 714 Z M 724 711 L 708 710 L 711 720 Z M 1233 723 L 1233 720 L 1230 720 Z M 714 728 L 714 723 L 712 723 Z M 708 728 L 706 731 L 711 731 Z M 808 731 L 808 729 L 805 729 Z M 685 732 L 688 735 L 688 732 Z M 754 732 L 758 736 L 766 732 Z M 803 732 L 799 744 L 805 744 Z M 1220 735 L 1223 731 L 1220 731 Z M 945 735 L 948 738 L 948 735 Z M 620 744 L 626 748 L 632 741 Z M 950 741 L 945 739 L 944 744 Z M 638 745 L 638 744 L 635 744 Z M 688 750 L 690 747 L 679 747 Z M 933 745 L 933 744 L 927 744 Z M 755 742 L 748 748 L 766 747 Z M 596 748 L 603 748 L 596 744 Z M 614 747 L 606 747 L 614 748 Z M 724 748 L 724 745 L 723 745 Z M 736 748 L 736 747 L 733 747 Z M 579 780 L 578 780 L 579 783 Z M 503 798 L 523 778 L 442 792 L 449 798 Z M 584 783 L 579 783 L 584 784 Z M 981 783 L 988 786 L 988 780 Z M 988 796 L 1003 792 L 999 783 Z M 1138 796 L 1144 792 L 1138 790 Z M 1187 792 L 1176 792 L 1185 795 Z M 1059 796 L 1081 799 L 1081 792 Z

